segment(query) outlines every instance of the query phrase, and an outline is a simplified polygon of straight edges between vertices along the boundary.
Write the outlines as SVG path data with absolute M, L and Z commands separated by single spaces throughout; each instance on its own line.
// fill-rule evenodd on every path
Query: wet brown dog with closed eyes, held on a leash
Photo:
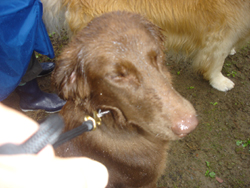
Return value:
M 62 52 L 52 79 L 66 131 L 98 109 L 102 125 L 62 145 L 57 154 L 87 156 L 109 171 L 109 188 L 156 187 L 169 140 L 197 126 L 195 110 L 172 87 L 159 29 L 137 14 L 93 19 Z M 98 181 L 98 179 L 97 179 Z

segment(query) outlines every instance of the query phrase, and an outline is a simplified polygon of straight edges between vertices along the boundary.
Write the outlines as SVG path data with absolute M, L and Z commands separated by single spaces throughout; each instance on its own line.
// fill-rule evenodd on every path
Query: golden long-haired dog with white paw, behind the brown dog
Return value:
M 63 22 L 75 34 L 105 12 L 125 10 L 162 29 L 168 50 L 193 60 L 210 84 L 227 91 L 234 83 L 221 69 L 228 54 L 250 38 L 249 0 L 42 0 L 50 30 Z M 65 26 L 65 25 L 64 25 Z

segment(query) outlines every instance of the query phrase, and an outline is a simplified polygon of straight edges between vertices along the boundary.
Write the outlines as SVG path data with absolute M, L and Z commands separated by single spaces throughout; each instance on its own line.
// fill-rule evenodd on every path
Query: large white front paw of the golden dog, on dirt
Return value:
M 210 84 L 213 88 L 224 92 L 234 88 L 234 83 L 221 73 L 211 78 Z

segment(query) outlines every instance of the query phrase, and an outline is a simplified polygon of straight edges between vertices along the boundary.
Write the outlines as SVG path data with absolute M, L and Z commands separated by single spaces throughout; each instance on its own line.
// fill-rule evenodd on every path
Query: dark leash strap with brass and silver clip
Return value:
M 19 145 L 12 143 L 1 145 L 0 155 L 37 154 L 48 144 L 56 148 L 84 132 L 95 130 L 97 125 L 101 125 L 101 117 L 107 113 L 109 111 L 94 111 L 93 117 L 86 116 L 80 126 L 65 133 L 62 133 L 64 128 L 63 118 L 58 114 L 51 115 L 40 123 L 38 131 L 26 142 Z

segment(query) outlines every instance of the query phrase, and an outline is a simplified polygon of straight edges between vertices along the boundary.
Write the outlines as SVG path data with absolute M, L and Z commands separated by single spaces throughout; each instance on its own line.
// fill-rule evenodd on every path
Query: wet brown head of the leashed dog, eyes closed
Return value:
M 163 139 L 197 125 L 195 110 L 172 87 L 159 28 L 137 14 L 92 20 L 64 49 L 52 75 L 59 95 L 86 110 L 110 110 L 117 126 Z M 67 104 L 66 104 L 67 105 Z

